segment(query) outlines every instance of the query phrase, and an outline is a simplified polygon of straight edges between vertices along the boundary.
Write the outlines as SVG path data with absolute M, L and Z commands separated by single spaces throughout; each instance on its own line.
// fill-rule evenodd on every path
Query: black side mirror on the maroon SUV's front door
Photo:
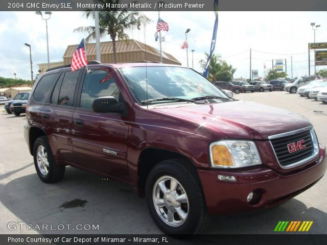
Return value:
M 94 112 L 111 112 L 127 116 L 127 108 L 124 103 L 116 101 L 113 96 L 99 97 L 93 101 Z

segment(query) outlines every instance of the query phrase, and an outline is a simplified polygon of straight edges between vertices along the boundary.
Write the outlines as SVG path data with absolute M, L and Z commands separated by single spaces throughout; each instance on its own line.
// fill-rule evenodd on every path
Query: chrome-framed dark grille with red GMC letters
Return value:
M 317 138 L 311 127 L 270 136 L 270 142 L 279 164 L 286 168 L 310 161 L 319 152 Z

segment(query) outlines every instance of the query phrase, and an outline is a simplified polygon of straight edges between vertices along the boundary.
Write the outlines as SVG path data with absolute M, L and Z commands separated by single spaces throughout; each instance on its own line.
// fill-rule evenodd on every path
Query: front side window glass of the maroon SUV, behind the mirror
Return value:
M 103 96 L 113 96 L 119 101 L 119 95 L 120 91 L 108 71 L 91 70 L 84 78 L 80 107 L 91 109 L 93 101 Z

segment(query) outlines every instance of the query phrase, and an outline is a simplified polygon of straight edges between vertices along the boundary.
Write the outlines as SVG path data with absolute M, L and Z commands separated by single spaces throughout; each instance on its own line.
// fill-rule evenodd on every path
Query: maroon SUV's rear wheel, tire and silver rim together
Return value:
M 48 139 L 45 136 L 39 137 L 35 141 L 33 157 L 36 173 L 43 182 L 52 183 L 63 178 L 65 166 L 56 164 Z

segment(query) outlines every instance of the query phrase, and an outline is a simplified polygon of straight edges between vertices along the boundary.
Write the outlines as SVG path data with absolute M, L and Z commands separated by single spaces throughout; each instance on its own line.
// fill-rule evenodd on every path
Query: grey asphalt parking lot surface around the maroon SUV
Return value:
M 241 93 L 234 97 L 308 117 L 319 142 L 327 145 L 326 104 L 284 91 Z M 138 198 L 127 184 L 103 180 L 98 175 L 72 167 L 67 167 L 65 177 L 59 183 L 41 182 L 24 140 L 25 122 L 25 114 L 16 117 L 0 109 L 1 234 L 161 234 L 152 222 L 145 200 Z M 271 121 L 272 127 L 273 124 Z M 279 220 L 312 220 L 309 233 L 327 234 L 325 186 L 326 176 L 311 189 L 273 209 L 214 216 L 205 233 L 272 234 Z M 48 228 L 30 230 L 22 224 L 21 229 L 18 222 L 31 224 L 34 228 L 48 225 Z M 8 223 L 11 229 L 8 229 Z M 67 225 L 70 225 L 69 229 Z

